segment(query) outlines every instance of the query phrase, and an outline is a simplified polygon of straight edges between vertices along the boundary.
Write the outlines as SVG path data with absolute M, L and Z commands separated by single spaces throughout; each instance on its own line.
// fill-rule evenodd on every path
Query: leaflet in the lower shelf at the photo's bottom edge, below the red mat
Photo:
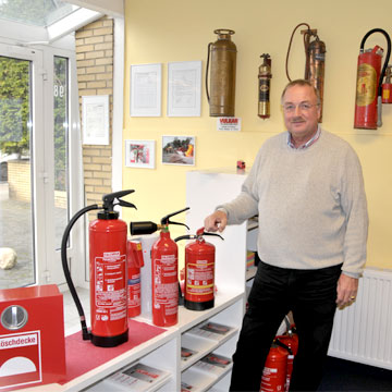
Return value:
M 144 364 L 136 364 L 122 369 L 96 383 L 88 391 L 134 391 L 145 392 L 164 382 L 170 373 Z

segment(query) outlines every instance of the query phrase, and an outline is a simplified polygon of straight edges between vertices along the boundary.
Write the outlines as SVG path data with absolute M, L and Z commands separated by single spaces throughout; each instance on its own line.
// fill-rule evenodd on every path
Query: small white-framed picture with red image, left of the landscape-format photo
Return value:
M 155 168 L 155 140 L 125 140 L 127 168 Z

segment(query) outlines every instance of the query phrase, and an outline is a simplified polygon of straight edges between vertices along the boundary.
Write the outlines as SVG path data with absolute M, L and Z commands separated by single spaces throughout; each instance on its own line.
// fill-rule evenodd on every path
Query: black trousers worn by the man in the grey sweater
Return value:
M 272 340 L 290 310 L 298 333 L 290 390 L 317 390 L 332 333 L 341 267 L 293 270 L 259 264 L 233 355 L 231 391 L 259 391 Z

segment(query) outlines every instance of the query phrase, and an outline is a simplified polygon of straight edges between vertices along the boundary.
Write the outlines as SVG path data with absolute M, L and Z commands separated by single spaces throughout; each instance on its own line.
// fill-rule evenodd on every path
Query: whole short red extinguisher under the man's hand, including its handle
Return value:
M 206 233 L 201 228 L 196 235 L 187 234 L 174 240 L 196 240 L 185 246 L 184 306 L 191 310 L 206 310 L 215 305 L 216 247 L 205 241 L 205 235 L 222 238 L 219 234 Z

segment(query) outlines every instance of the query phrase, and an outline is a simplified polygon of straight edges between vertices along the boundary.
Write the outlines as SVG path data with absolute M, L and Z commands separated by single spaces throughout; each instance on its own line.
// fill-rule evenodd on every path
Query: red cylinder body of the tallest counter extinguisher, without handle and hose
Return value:
M 127 226 L 99 217 L 89 224 L 91 342 L 110 347 L 127 341 Z

